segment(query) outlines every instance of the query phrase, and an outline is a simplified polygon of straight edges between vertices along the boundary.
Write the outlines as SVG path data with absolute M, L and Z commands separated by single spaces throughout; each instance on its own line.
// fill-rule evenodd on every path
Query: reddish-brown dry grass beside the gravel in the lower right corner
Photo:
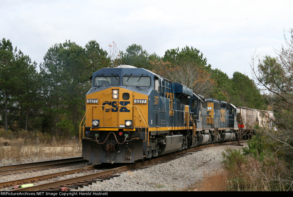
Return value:
M 229 169 L 206 172 L 202 181 L 185 191 L 286 191 L 277 179 L 285 166 L 276 159 L 265 159 L 260 162 L 248 157 L 248 162 L 241 165 L 238 172 Z

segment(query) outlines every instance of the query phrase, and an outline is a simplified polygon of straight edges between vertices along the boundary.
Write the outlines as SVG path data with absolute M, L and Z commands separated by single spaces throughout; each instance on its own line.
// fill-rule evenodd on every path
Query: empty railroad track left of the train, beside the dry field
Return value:
M 11 174 L 16 172 L 24 172 L 24 171 L 30 171 L 30 170 L 79 164 L 84 162 L 88 162 L 88 161 L 82 157 L 71 157 L 71 158 L 58 159 L 58 160 L 48 160 L 48 161 L 15 164 L 15 165 L 5 165 L 5 166 L 0 166 L 0 174 Z

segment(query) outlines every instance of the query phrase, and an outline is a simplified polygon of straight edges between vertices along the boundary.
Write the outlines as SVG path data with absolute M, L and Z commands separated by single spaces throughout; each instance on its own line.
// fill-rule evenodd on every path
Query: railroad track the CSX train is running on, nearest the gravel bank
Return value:
M 241 141 L 241 142 L 245 142 L 245 141 Z M 173 160 L 177 156 L 188 153 L 190 151 L 194 151 L 194 150 L 197 150 L 200 148 L 214 146 L 214 145 L 221 145 L 221 144 L 235 145 L 235 144 L 237 144 L 237 142 L 225 142 L 225 143 L 198 146 L 195 148 L 183 150 L 178 153 L 166 155 L 163 157 L 159 157 L 159 158 L 152 159 L 149 161 L 140 162 L 137 164 L 130 164 L 130 165 L 125 165 L 125 166 L 115 167 L 115 168 L 104 170 L 101 172 L 95 172 L 95 173 L 90 173 L 90 174 L 86 174 L 86 175 L 82 175 L 82 176 L 62 179 L 62 180 L 58 180 L 58 181 L 42 183 L 42 184 L 30 186 L 30 187 L 12 189 L 9 191 L 61 191 L 62 187 L 63 188 L 67 187 L 67 188 L 77 189 L 78 187 L 84 187 L 84 186 L 91 185 L 93 182 L 96 183 L 97 181 L 103 181 L 105 179 L 111 179 L 111 178 L 120 176 L 119 173 L 126 171 L 126 170 L 136 170 L 136 169 L 146 168 L 147 165 L 151 165 L 154 163 L 160 163 L 160 162 L 167 162 L 168 160 Z M 99 165 L 93 165 L 93 166 L 88 166 L 88 167 L 79 168 L 79 169 L 72 169 L 72 170 L 67 170 L 67 171 L 58 172 L 58 173 L 41 175 L 41 176 L 37 176 L 37 177 L 30 177 L 30 178 L 19 179 L 19 180 L 14 180 L 14 181 L 6 181 L 6 182 L 0 183 L 0 187 L 13 186 L 16 184 L 23 184 L 23 183 L 29 183 L 29 182 L 49 179 L 52 177 L 62 176 L 65 174 L 72 174 L 72 173 L 83 172 L 83 171 L 92 170 L 92 169 L 98 169 L 98 166 Z

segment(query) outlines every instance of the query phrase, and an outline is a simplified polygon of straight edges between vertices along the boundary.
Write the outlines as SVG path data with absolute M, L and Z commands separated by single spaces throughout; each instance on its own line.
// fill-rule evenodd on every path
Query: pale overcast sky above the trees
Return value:
M 108 51 L 135 43 L 149 54 L 186 45 L 212 68 L 251 77 L 251 55 L 275 56 L 284 29 L 293 27 L 293 1 L 12 1 L 0 0 L 0 38 L 32 61 L 65 40 L 84 47 L 96 40 Z

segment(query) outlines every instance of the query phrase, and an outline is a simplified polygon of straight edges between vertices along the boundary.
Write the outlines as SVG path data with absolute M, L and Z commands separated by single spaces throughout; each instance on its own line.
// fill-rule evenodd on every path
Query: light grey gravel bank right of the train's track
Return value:
M 233 145 L 202 148 L 166 163 L 123 172 L 120 177 L 71 191 L 182 191 L 202 180 L 205 172 L 220 169 L 221 153 L 228 147 L 242 149 Z

